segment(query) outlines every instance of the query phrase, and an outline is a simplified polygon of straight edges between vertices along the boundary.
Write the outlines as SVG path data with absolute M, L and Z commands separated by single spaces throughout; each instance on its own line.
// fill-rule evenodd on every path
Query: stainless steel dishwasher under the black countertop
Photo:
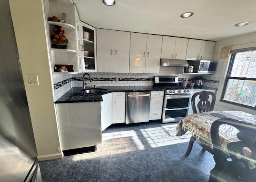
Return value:
M 149 121 L 150 92 L 127 92 L 125 123 Z

